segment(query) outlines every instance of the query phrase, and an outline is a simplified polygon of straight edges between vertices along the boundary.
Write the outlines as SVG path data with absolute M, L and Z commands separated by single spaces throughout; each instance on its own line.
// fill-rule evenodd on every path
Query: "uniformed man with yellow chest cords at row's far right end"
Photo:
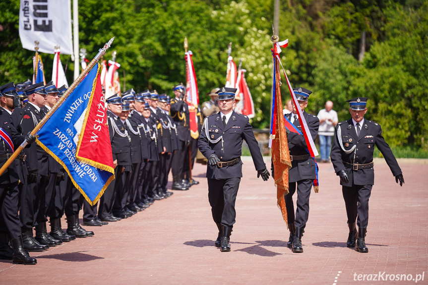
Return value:
M 183 182 L 183 162 L 188 160 L 188 148 L 190 144 L 189 108 L 185 99 L 186 88 L 183 84 L 174 86 L 175 98 L 171 99 L 171 117 L 177 125 L 179 134 L 179 149 L 173 158 L 173 190 L 187 190 L 189 185 Z

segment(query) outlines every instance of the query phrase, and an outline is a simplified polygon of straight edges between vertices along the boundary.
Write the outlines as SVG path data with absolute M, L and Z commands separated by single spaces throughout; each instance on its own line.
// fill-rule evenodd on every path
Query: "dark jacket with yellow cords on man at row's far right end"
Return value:
M 171 99 L 171 117 L 177 125 L 181 141 L 190 141 L 189 107 L 187 103 L 176 98 Z

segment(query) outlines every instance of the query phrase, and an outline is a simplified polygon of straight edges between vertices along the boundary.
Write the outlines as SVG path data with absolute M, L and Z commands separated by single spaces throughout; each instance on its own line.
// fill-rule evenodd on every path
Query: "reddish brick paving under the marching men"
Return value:
M 428 284 L 428 172 L 422 164 L 399 163 L 403 187 L 382 160 L 375 163 L 367 254 L 346 247 L 345 204 L 331 164 L 319 164 L 320 190 L 311 193 L 304 253 L 295 254 L 286 246 L 273 180 L 257 178 L 244 160 L 232 252 L 214 246 L 206 167 L 196 164 L 200 184 L 188 191 L 174 191 L 120 222 L 85 227 L 95 236 L 32 253 L 35 266 L 1 260 L 0 284 L 414 284 L 385 276 L 415 278 L 424 271 L 418 284 Z M 359 274 L 379 272 L 385 272 L 380 281 L 358 281 Z

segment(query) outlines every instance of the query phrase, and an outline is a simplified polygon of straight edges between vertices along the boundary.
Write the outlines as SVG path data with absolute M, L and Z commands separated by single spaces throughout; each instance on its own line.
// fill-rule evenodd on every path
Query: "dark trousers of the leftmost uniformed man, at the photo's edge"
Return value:
M 0 184 L 0 231 L 5 231 L 10 238 L 21 235 L 18 217 L 18 181 Z

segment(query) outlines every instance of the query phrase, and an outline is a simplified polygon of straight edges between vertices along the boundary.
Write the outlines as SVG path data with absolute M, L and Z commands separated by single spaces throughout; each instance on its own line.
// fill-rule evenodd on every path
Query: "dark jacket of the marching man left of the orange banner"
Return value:
M 236 114 L 232 111 L 232 115 L 229 118 L 226 127 L 223 127 L 220 112 L 206 117 L 205 120 L 208 122 L 208 129 L 205 128 L 206 125 L 204 124 L 202 133 L 199 136 L 198 148 L 206 158 L 213 153 L 215 153 L 220 161 L 223 162 L 239 158 L 242 154 L 242 143 L 244 139 L 251 152 L 255 169 L 258 171 L 266 168 L 247 116 Z M 223 143 L 222 139 L 217 143 L 211 143 L 208 140 L 207 134 L 211 140 L 217 140 L 223 136 Z M 206 177 L 212 179 L 242 177 L 242 165 L 242 161 L 236 165 L 224 168 L 207 165 Z

